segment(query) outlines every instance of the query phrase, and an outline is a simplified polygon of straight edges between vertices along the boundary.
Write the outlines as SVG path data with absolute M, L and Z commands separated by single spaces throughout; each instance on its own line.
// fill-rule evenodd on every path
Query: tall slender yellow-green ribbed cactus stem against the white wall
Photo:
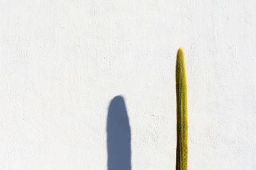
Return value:
M 184 52 L 179 48 L 176 60 L 176 97 L 177 97 L 177 148 L 176 170 L 188 167 L 188 111 L 187 83 Z

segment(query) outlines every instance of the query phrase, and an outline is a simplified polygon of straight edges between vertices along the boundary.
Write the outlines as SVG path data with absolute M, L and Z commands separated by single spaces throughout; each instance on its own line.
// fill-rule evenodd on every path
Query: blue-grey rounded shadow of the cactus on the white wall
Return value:
M 108 170 L 131 170 L 131 129 L 122 96 L 109 104 L 107 133 Z

